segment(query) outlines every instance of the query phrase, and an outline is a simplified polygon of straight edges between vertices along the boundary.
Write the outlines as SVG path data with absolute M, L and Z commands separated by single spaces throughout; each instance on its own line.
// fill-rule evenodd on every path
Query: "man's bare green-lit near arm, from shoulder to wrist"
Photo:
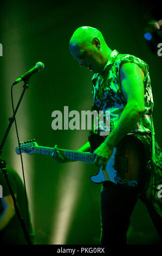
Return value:
M 128 132 L 133 130 L 145 110 L 144 72 L 137 64 L 125 63 L 120 69 L 121 88 L 127 104 L 116 127 L 106 138 L 108 147 L 113 148 Z

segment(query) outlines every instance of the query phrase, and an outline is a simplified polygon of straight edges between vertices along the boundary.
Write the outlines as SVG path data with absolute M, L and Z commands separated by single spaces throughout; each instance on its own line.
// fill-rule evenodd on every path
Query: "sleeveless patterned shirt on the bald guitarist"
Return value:
M 111 132 L 118 123 L 120 115 L 126 106 L 126 99 L 122 93 L 120 84 L 120 68 L 121 65 L 127 62 L 138 64 L 144 71 L 144 96 L 145 96 L 145 112 L 140 118 L 134 129 L 128 134 L 151 132 L 151 114 L 153 110 L 153 97 L 151 90 L 150 75 L 148 72 L 148 65 L 130 54 L 120 54 L 114 50 L 108 59 L 105 68 L 101 74 L 94 74 L 93 82 L 93 106 L 92 111 L 102 111 L 103 117 L 98 119 L 98 127 L 93 127 L 94 133 L 102 131 Z M 109 111 L 109 125 L 106 126 L 106 119 L 108 118 L 105 111 Z M 101 112 L 100 112 L 101 113 Z M 101 133 L 100 133 L 101 134 Z

